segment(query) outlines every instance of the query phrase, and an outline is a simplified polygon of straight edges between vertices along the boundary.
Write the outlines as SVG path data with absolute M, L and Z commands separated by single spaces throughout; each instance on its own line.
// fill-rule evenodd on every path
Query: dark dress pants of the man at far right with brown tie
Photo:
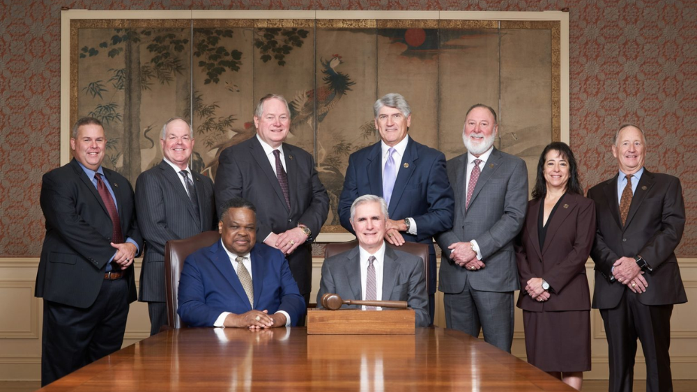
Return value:
M 608 340 L 609 391 L 631 392 L 636 338 L 641 341 L 646 360 L 646 391 L 673 391 L 671 356 L 668 353 L 673 305 L 644 305 L 638 301 L 639 295 L 625 288 L 618 306 L 600 309 Z

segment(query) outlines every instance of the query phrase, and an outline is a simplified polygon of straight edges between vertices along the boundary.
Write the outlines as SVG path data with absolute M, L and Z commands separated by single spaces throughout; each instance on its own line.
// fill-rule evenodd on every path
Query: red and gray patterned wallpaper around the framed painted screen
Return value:
M 41 176 L 59 166 L 61 6 L 91 10 L 508 10 L 569 8 L 571 144 L 586 187 L 616 172 L 620 123 L 643 126 L 646 166 L 682 180 L 697 255 L 696 0 L 0 0 L 0 257 L 38 256 Z

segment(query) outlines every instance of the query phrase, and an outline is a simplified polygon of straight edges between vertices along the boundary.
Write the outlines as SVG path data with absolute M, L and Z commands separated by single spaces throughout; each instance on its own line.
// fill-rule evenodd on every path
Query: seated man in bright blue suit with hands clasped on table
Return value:
M 283 253 L 256 241 L 256 208 L 243 198 L 222 205 L 220 242 L 186 258 L 179 280 L 181 320 L 191 327 L 296 325 L 305 300 Z

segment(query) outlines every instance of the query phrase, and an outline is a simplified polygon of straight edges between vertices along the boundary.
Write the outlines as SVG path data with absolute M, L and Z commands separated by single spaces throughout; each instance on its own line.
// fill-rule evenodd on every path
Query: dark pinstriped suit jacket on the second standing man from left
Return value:
M 199 199 L 198 215 L 181 182 L 181 175 L 164 162 L 138 176 L 135 206 L 138 227 L 145 239 L 140 273 L 141 301 L 164 302 L 164 244 L 217 229 L 213 181 L 192 171 Z

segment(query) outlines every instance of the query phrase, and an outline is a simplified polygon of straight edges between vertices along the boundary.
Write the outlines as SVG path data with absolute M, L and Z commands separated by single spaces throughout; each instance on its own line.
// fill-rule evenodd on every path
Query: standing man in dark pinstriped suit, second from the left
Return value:
M 194 132 L 183 118 L 167 120 L 160 134 L 162 162 L 138 176 L 135 205 L 145 239 L 139 301 L 148 303 L 150 334 L 167 324 L 164 244 L 215 230 L 213 181 L 194 173 L 189 159 Z

